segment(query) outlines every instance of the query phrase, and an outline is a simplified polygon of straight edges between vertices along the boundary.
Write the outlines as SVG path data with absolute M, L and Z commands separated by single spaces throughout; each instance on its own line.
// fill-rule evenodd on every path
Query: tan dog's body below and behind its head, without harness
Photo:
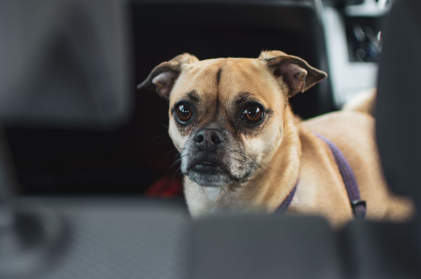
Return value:
M 285 113 L 291 114 L 290 111 Z M 285 116 L 284 116 L 285 117 Z M 290 116 L 293 118 L 293 116 Z M 336 112 L 309 121 L 296 121 L 295 131 L 284 138 L 277 154 L 298 158 L 285 162 L 280 156 L 261 164 L 249 181 L 229 189 L 201 187 L 186 176 L 184 190 L 193 216 L 236 210 L 273 212 L 290 193 L 298 177 L 288 212 L 327 217 L 334 227 L 352 220 L 352 209 L 333 155 L 314 132 L 324 134 L 341 149 L 355 173 L 361 198 L 367 201 L 367 218 L 407 220 L 412 214 L 408 199 L 393 196 L 386 186 L 374 140 L 374 119 L 358 112 Z M 292 152 L 291 152 L 292 151 Z M 292 154 L 291 154 L 292 153 Z M 300 156 L 301 154 L 301 156 Z M 291 172 L 299 166 L 299 173 Z M 267 165 L 267 166 L 266 166 Z

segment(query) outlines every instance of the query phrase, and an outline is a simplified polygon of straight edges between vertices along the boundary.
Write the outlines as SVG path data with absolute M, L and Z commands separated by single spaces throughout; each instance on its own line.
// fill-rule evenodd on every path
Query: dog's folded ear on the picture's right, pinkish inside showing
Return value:
M 288 96 L 304 92 L 328 75 L 311 67 L 303 59 L 287 55 L 282 51 L 262 51 L 259 58 L 266 63 L 281 85 L 288 86 Z

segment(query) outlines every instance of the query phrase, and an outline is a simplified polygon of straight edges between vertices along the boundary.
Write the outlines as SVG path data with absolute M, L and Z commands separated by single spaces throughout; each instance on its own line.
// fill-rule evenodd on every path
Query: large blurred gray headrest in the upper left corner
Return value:
M 0 119 L 111 127 L 127 118 L 122 0 L 0 2 Z

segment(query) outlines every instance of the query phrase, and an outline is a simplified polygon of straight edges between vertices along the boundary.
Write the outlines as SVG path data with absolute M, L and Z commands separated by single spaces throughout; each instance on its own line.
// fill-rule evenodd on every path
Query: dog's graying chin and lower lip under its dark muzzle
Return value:
M 214 164 L 195 165 L 189 169 L 187 176 L 204 187 L 222 187 L 236 181 L 226 169 Z

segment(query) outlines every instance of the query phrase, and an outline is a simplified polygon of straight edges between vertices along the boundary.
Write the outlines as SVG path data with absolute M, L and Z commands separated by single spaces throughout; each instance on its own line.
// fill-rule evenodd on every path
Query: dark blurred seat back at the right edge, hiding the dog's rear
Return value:
M 421 2 L 396 1 L 383 35 L 376 108 L 377 141 L 392 190 L 421 208 Z

